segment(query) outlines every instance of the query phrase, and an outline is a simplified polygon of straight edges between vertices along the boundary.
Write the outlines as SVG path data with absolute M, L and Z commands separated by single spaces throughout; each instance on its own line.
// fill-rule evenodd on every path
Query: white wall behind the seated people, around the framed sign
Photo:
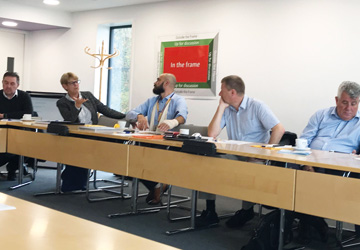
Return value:
M 266 102 L 285 128 L 300 133 L 316 110 L 334 105 L 343 80 L 360 82 L 357 0 L 170 1 L 73 15 L 71 30 L 29 35 L 31 90 L 62 91 L 67 71 L 94 91 L 93 50 L 101 24 L 133 24 L 131 107 L 152 93 L 160 36 L 219 32 L 217 82 L 237 74 L 249 96 Z M 96 93 L 95 93 L 96 94 Z M 218 100 L 188 100 L 188 123 L 207 125 Z

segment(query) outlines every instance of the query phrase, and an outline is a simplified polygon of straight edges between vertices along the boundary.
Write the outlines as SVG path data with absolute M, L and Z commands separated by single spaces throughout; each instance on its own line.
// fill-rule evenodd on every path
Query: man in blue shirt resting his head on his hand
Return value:
M 208 127 L 208 135 L 216 138 L 226 127 L 228 138 L 248 142 L 277 144 L 285 132 L 279 120 L 263 102 L 245 94 L 245 84 L 238 76 L 231 75 L 221 80 L 220 101 Z M 270 130 L 272 131 L 270 135 Z M 257 159 L 242 160 L 263 164 Z M 241 210 L 231 217 L 226 225 L 240 227 L 254 217 L 253 203 L 243 201 Z M 206 210 L 196 220 L 196 226 L 209 226 L 219 222 L 215 212 L 215 197 L 207 197 Z

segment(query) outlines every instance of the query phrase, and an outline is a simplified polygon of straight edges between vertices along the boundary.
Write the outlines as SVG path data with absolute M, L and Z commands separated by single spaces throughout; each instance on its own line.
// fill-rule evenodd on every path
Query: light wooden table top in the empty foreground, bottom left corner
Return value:
M 2 249 L 177 249 L 0 193 Z

